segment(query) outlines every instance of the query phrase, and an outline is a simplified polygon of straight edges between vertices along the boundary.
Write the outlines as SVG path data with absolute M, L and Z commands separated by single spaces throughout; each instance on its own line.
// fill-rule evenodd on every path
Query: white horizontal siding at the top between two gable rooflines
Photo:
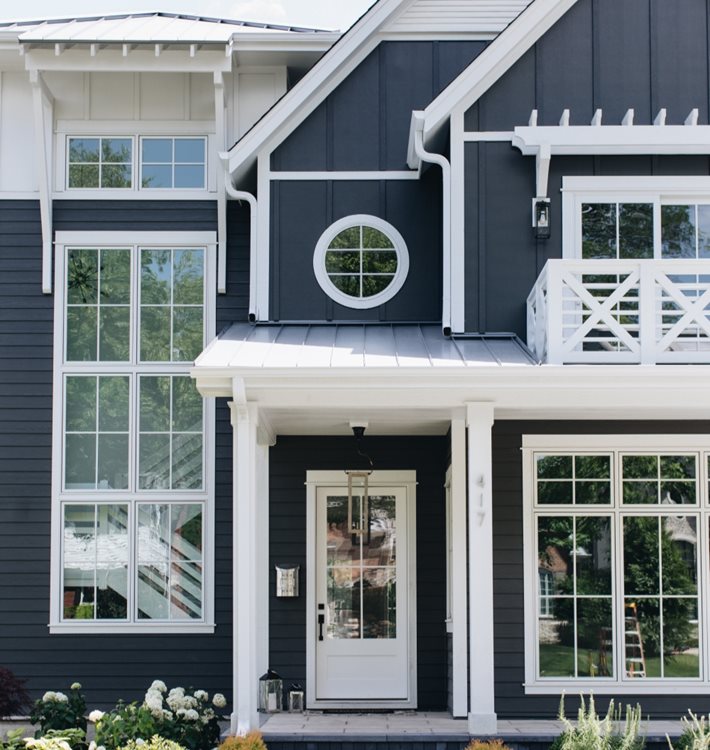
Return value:
M 415 0 L 384 32 L 498 33 L 531 0 Z

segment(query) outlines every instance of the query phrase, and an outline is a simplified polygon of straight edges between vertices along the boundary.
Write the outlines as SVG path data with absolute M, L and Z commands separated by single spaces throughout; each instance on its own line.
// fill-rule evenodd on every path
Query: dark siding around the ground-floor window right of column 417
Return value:
M 553 719 L 560 696 L 525 695 L 523 608 L 523 435 L 702 434 L 709 421 L 500 421 L 493 427 L 493 602 L 495 618 L 495 706 L 500 719 Z M 574 716 L 577 696 L 567 691 L 567 715 Z M 597 709 L 608 699 L 617 705 L 640 703 L 644 717 L 678 719 L 688 708 L 707 711 L 707 696 L 682 695 L 671 685 L 662 695 L 596 696 Z

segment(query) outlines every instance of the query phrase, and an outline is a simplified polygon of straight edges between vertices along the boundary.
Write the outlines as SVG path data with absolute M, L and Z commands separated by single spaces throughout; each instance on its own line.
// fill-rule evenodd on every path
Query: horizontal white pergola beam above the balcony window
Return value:
M 710 125 L 571 125 L 517 127 L 512 144 L 524 156 L 549 145 L 553 156 L 708 154 Z

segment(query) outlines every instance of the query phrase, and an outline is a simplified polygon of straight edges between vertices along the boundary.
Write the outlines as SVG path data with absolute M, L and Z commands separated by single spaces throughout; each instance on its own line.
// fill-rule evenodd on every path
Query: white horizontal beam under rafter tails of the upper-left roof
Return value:
M 100 43 L 103 44 L 103 43 Z M 133 49 L 123 55 L 120 49 L 100 49 L 91 56 L 89 47 L 65 50 L 61 55 L 52 49 L 33 49 L 25 53 L 27 70 L 42 71 L 80 71 L 86 72 L 156 72 L 156 73 L 213 73 L 232 70 L 231 55 L 221 50 L 199 50 L 195 57 L 190 57 L 188 50 L 164 50 L 160 56 L 155 55 L 155 44 L 146 49 Z

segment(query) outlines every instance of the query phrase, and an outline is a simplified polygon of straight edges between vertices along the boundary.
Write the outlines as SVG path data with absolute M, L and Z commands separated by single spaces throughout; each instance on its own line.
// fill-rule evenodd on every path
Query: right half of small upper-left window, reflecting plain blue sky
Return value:
M 143 136 L 142 190 L 204 190 L 207 184 L 207 139 Z

